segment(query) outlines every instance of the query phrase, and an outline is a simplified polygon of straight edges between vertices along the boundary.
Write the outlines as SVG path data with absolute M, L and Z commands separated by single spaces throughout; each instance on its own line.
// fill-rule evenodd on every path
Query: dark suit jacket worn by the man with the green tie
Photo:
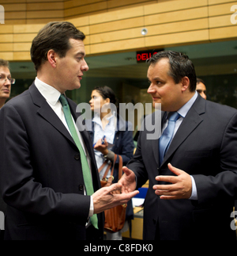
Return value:
M 69 100 L 77 119 L 76 104 Z M 80 154 L 70 133 L 34 83 L 0 113 L 0 188 L 8 204 L 6 239 L 85 239 L 90 197 L 84 195 Z M 81 132 L 100 189 L 88 132 Z M 103 218 L 98 215 L 103 236 Z

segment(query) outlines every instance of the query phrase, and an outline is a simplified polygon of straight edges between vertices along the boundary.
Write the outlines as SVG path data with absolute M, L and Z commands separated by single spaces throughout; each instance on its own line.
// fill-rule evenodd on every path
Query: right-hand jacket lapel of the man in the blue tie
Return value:
M 174 139 L 171 141 L 171 146 L 168 148 L 164 161 L 161 166 L 167 162 L 176 149 L 182 144 L 182 142 L 190 136 L 195 128 L 202 122 L 201 114 L 205 113 L 205 100 L 198 95 L 194 105 L 190 108 L 186 117 L 182 120 L 178 131 L 176 132 Z

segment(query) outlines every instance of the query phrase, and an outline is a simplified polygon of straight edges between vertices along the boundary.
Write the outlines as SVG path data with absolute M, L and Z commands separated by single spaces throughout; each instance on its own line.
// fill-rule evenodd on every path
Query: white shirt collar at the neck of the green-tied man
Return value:
M 55 105 L 58 102 L 58 98 L 61 93 L 56 90 L 53 86 L 47 85 L 47 83 L 40 81 L 39 78 L 36 77 L 35 80 L 36 88 L 40 91 L 40 94 L 51 104 Z

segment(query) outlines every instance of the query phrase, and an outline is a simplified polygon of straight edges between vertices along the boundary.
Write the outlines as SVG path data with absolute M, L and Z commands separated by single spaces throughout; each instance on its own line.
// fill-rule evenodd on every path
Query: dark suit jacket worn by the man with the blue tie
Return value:
M 144 239 L 235 239 L 230 216 L 237 193 L 236 109 L 198 95 L 161 165 L 158 141 L 146 139 L 148 133 L 141 132 L 137 151 L 128 164 L 137 175 L 137 187 L 149 178 Z M 155 177 L 174 175 L 168 162 L 193 175 L 198 201 L 165 201 L 156 196 L 152 189 L 157 184 Z

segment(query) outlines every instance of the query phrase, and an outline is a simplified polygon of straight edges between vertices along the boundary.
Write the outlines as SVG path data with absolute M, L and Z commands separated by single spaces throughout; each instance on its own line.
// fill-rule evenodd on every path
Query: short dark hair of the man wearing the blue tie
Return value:
M 174 51 L 157 52 L 148 59 L 149 66 L 155 65 L 160 59 L 169 59 L 170 71 L 168 75 L 174 79 L 175 83 L 179 83 L 186 76 L 190 79 L 190 91 L 196 90 L 197 78 L 194 63 L 187 55 Z

